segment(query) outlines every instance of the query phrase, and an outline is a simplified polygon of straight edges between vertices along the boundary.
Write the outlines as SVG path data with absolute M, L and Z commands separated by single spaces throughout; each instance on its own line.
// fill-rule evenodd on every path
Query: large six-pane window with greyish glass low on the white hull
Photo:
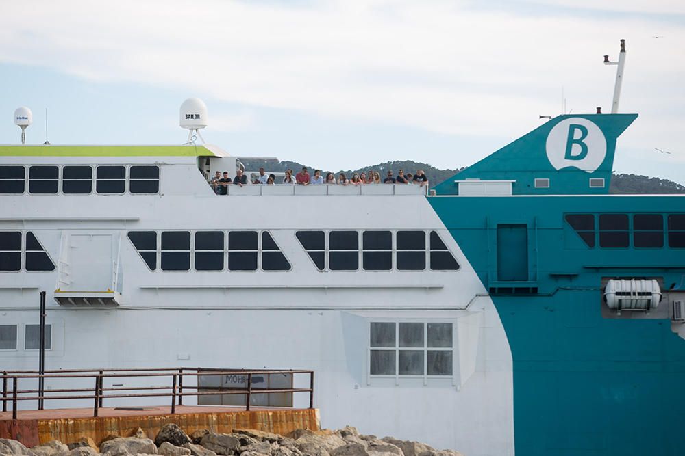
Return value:
M 371 322 L 369 375 L 449 377 L 453 325 L 447 322 Z

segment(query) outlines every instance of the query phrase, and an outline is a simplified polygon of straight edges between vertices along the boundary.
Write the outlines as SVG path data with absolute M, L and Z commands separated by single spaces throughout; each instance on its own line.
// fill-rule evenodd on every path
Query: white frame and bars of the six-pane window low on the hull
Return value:
M 395 323 L 395 346 L 394 347 L 371 347 L 371 323 Z M 399 324 L 400 323 L 423 323 L 423 348 L 422 347 L 400 347 L 399 346 Z M 428 347 L 428 323 L 449 323 L 452 325 L 452 346 L 451 347 Z M 373 379 L 395 379 L 395 384 L 399 385 L 402 379 L 423 379 L 423 385 L 427 386 L 429 380 L 449 380 L 455 384 L 457 378 L 457 351 L 456 351 L 456 324 L 452 320 L 436 319 L 427 320 L 388 320 L 373 319 L 366 325 L 366 375 L 367 384 L 371 384 Z M 395 375 L 377 375 L 371 373 L 371 351 L 395 351 Z M 400 351 L 419 351 L 423 350 L 423 375 L 402 375 L 399 373 L 399 352 Z M 428 375 L 428 351 L 451 351 L 452 353 L 452 373 L 451 375 Z

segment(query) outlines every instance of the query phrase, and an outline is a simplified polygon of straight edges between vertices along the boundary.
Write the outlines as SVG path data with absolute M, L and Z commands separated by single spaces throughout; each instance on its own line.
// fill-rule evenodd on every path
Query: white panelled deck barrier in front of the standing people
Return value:
M 379 184 L 379 185 L 227 185 L 231 196 L 395 196 L 427 195 L 428 186 L 418 184 Z

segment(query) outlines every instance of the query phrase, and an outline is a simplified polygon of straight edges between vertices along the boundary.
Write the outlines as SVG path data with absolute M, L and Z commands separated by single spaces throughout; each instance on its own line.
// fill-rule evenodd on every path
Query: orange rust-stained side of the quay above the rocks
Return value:
M 28 421 L 28 420 L 27 420 Z M 52 418 L 45 420 L 31 420 L 36 423 L 35 433 L 23 431 L 22 437 L 36 435 L 38 442 L 50 440 L 61 442 L 76 442 L 81 437 L 88 436 L 100 442 L 107 435 L 128 437 L 138 427 L 142 428 L 151 439 L 168 423 L 179 425 L 190 434 L 198 429 L 209 429 L 214 432 L 229 433 L 233 429 L 259 429 L 278 434 L 286 434 L 295 429 L 320 429 L 319 410 L 251 410 L 218 413 L 189 413 L 166 414 L 153 416 L 110 416 L 101 418 Z M 1 433 L 1 431 L 0 431 Z M 14 437 L 13 437 L 14 438 Z M 23 439 L 17 439 L 24 442 Z M 34 440 L 34 439 L 31 439 Z M 24 442 L 27 446 L 29 440 Z

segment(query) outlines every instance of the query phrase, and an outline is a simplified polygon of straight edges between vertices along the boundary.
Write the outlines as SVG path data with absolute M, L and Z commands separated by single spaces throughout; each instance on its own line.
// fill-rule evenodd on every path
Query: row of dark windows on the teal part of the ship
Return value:
M 566 214 L 588 247 L 685 248 L 685 214 Z M 665 220 L 665 224 L 664 224 Z M 599 237 L 599 243 L 597 238 Z

